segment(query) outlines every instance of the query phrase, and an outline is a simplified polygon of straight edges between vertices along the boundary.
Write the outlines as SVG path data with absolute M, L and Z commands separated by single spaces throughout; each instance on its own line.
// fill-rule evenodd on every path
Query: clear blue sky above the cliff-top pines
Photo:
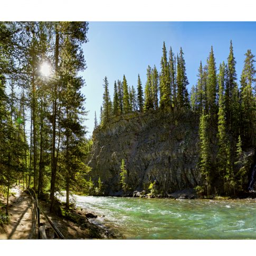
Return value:
M 88 137 L 92 135 L 94 111 L 99 119 L 103 94 L 103 78 L 109 81 L 113 96 L 115 80 L 125 74 L 128 85 L 137 88 L 140 74 L 143 86 L 147 66 L 160 70 L 163 41 L 175 53 L 182 47 L 189 81 L 188 91 L 197 80 L 197 70 L 213 46 L 216 67 L 227 60 L 230 40 L 234 48 L 238 79 L 243 68 L 244 53 L 256 54 L 256 22 L 89 22 L 89 42 L 83 45 L 87 69 L 82 72 L 86 87 L 86 109 L 89 110 Z

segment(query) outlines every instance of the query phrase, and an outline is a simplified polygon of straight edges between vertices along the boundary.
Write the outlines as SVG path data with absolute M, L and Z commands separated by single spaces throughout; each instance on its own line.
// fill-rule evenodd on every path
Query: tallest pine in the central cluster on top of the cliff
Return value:
M 163 45 L 163 56 L 160 64 L 161 64 L 161 72 L 159 76 L 160 108 L 165 109 L 171 106 L 170 95 L 172 94 L 171 88 L 170 88 L 170 72 L 169 72 L 169 63 L 167 62 L 167 52 L 165 48 L 165 42 Z

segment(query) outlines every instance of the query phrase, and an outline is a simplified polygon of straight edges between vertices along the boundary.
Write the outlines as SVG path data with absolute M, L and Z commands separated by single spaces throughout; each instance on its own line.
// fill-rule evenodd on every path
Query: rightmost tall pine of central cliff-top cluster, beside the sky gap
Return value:
M 177 56 L 177 106 L 179 108 L 189 107 L 188 92 L 187 92 L 187 75 L 185 60 L 183 58 L 182 48 Z

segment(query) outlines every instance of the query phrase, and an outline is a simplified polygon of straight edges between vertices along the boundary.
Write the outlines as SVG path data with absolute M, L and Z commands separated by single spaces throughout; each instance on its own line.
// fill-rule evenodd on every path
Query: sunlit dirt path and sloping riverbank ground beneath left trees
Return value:
M 9 200 L 10 221 L 0 232 L 0 239 L 37 239 L 38 231 L 36 227 L 34 204 L 29 194 L 22 191 L 20 186 L 11 189 L 12 195 Z M 14 195 L 13 195 L 14 194 Z M 6 198 L 0 196 L 0 201 L 6 202 Z M 78 210 L 73 209 L 72 214 L 80 215 L 82 225 L 74 223 L 67 218 L 49 212 L 50 205 L 42 200 L 39 204 L 48 215 L 53 224 L 58 227 L 65 239 L 113 239 L 116 238 L 110 231 L 89 222 L 87 217 Z M 40 222 L 45 224 L 45 228 L 50 227 L 43 214 L 40 214 Z M 51 232 L 50 236 L 54 236 Z

